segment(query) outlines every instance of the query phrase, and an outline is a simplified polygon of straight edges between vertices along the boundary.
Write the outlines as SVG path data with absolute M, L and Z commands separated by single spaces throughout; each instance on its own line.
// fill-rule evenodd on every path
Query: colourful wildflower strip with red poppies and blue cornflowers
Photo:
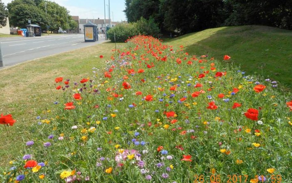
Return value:
M 92 76 L 51 81 L 54 107 L 2 182 L 292 182 L 292 98 L 277 81 L 151 36 L 99 59 Z M 9 136 L 17 119 L 0 123 Z

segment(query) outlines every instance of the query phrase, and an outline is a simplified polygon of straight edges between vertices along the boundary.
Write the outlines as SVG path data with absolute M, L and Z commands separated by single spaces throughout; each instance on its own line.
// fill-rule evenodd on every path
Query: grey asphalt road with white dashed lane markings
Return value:
M 83 34 L 0 38 L 4 65 L 8 67 L 27 60 L 67 52 L 107 41 L 103 35 L 99 36 L 101 37 L 99 37 L 98 41 L 86 43 L 84 42 Z

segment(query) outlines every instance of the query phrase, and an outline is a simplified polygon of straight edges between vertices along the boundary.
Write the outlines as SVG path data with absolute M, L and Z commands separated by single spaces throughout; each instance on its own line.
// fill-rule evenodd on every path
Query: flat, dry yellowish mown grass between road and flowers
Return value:
M 0 114 L 11 113 L 17 119 L 10 128 L 12 139 L 4 136 L 0 142 L 0 166 L 4 166 L 7 158 L 14 155 L 13 149 L 22 144 L 22 138 L 31 134 L 29 126 L 35 123 L 36 116 L 53 105 L 56 91 L 48 83 L 60 75 L 71 81 L 91 77 L 93 67 L 102 68 L 105 65 L 105 60 L 101 60 L 99 55 L 109 58 L 114 48 L 112 43 L 98 44 L 0 70 Z M 6 134 L 3 126 L 0 133 Z M 11 154 L 5 154 L 3 149 L 8 149 Z

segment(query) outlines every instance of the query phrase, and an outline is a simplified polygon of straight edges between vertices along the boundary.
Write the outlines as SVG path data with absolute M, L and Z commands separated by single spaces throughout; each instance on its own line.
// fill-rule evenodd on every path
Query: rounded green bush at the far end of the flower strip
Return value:
M 135 35 L 152 35 L 158 37 L 159 32 L 160 30 L 152 18 L 146 20 L 141 17 L 139 21 L 134 23 L 117 24 L 107 31 L 107 36 L 114 42 L 114 34 L 116 34 L 116 42 L 125 42 L 128 38 Z

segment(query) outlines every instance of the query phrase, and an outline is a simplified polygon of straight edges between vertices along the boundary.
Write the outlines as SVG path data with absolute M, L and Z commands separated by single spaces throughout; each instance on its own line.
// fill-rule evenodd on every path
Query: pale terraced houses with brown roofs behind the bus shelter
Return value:
M 73 16 L 72 16 L 73 17 Z M 99 34 L 103 33 L 104 31 L 104 19 L 79 19 L 79 33 L 84 34 L 83 25 L 88 22 L 94 23 L 97 25 L 97 29 Z M 116 24 L 120 22 L 111 22 L 111 27 L 115 27 Z M 105 19 L 105 26 L 109 26 L 109 19 Z

